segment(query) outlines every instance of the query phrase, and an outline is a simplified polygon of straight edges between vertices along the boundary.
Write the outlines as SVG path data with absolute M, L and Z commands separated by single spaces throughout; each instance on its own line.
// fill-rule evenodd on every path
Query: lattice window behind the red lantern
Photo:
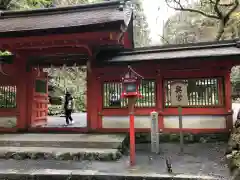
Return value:
M 148 108 L 156 105 L 156 85 L 153 80 L 143 80 L 140 87 L 143 95 L 136 102 L 136 107 Z M 103 84 L 103 107 L 104 108 L 126 108 L 127 99 L 121 98 L 121 82 L 104 82 Z

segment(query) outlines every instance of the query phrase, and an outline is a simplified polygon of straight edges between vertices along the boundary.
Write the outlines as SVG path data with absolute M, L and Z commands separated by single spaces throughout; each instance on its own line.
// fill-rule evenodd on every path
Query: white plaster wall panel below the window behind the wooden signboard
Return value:
M 226 128 L 225 116 L 183 116 L 183 128 L 191 129 L 224 129 Z M 164 128 L 179 128 L 178 116 L 165 116 Z

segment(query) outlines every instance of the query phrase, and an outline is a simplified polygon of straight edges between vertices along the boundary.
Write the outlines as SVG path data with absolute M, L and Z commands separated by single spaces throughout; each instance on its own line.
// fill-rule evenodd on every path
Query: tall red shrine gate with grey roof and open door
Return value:
M 75 63 L 88 67 L 88 127 L 50 128 L 47 131 L 96 129 L 97 115 L 91 113 L 95 103 L 92 90 L 98 88 L 93 76 L 96 56 L 103 51 L 132 48 L 131 7 L 114 1 L 8 11 L 1 17 L 0 48 L 15 54 L 15 59 L 10 65 L 3 65 L 7 75 L 1 75 L 0 84 L 4 89 L 11 85 L 16 99 L 13 100 L 15 106 L 0 109 L 0 122 L 11 122 L 14 126 L 4 125 L 0 131 L 38 130 L 38 126 L 46 122 L 48 103 L 47 76 L 42 68 Z M 10 92 L 12 90 L 3 94 Z M 4 100 L 7 102 L 6 98 Z

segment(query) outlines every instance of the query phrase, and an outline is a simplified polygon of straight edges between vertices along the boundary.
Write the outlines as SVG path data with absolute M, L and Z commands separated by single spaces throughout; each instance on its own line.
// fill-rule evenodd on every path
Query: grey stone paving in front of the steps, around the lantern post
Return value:
M 167 174 L 165 158 L 170 158 L 172 162 L 173 176 L 187 179 L 186 176 L 195 176 L 195 179 L 209 179 L 211 176 L 216 179 L 228 180 L 230 178 L 228 167 L 224 159 L 226 149 L 225 143 L 188 144 L 185 147 L 184 155 L 179 155 L 178 144 L 161 144 L 159 155 L 149 153 L 149 145 L 137 146 L 137 164 L 129 167 L 129 157 L 125 156 L 117 162 L 97 162 L 97 161 L 54 161 L 54 160 L 1 160 L 1 172 L 12 173 L 43 173 L 46 174 L 94 174 L 122 176 L 161 176 L 169 178 Z M 149 157 L 151 156 L 151 158 Z M 152 159 L 152 160 L 151 160 Z M 196 178 L 201 176 L 201 178 Z M 172 176 L 170 176 L 172 177 Z M 165 178 L 166 179 L 166 178 Z M 172 179 L 172 178 L 169 178 Z M 181 178 L 180 178 L 181 179 Z M 194 178 L 192 178 L 194 179 Z

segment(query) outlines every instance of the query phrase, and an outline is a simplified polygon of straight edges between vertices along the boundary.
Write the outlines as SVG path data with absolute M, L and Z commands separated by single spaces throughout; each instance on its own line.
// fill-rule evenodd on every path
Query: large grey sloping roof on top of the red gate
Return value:
M 128 14 L 128 12 L 130 12 Z M 110 24 L 128 26 L 132 15 L 125 1 L 109 1 L 96 4 L 67 6 L 58 8 L 35 9 L 27 11 L 6 11 L 0 16 L 0 37 L 27 36 L 27 33 L 58 32 L 66 29 L 77 29 L 82 32 L 88 31 L 88 26 L 110 28 Z M 97 31 L 97 28 L 93 28 Z M 69 30 L 67 30 L 68 32 Z M 23 35 L 22 35 L 23 34 Z M 48 33 L 46 33 L 48 34 Z

